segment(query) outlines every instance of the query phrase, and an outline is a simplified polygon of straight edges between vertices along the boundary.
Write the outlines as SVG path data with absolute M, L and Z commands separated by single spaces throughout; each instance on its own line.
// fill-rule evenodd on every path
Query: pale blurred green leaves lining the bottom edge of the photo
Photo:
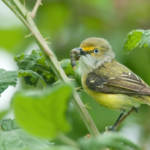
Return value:
M 0 131 L 0 149 L 2 150 L 78 150 L 76 147 L 55 146 L 46 139 L 33 137 L 23 129 L 19 129 L 15 120 L 3 120 L 0 122 L 0 126 L 2 129 Z M 78 144 L 78 148 L 81 150 L 102 150 L 105 147 L 118 150 L 140 150 L 134 143 L 117 133 L 107 133 L 89 140 L 82 138 Z

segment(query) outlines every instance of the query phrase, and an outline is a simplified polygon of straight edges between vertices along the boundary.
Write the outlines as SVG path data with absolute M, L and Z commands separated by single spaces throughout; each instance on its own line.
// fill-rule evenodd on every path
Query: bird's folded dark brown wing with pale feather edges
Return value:
M 92 72 L 88 74 L 85 82 L 88 88 L 97 92 L 150 95 L 150 87 L 131 71 L 115 77 Z

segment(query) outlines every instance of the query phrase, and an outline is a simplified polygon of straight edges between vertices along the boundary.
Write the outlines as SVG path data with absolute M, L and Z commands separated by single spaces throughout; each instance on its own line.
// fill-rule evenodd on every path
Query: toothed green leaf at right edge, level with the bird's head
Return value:
M 125 39 L 124 51 L 130 52 L 132 49 L 139 48 L 150 48 L 150 30 L 133 30 Z

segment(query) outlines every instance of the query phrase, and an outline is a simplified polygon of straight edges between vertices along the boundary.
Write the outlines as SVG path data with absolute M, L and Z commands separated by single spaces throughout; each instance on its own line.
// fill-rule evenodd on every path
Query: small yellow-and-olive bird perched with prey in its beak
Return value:
M 77 58 L 72 54 L 76 53 Z M 79 59 L 79 71 L 84 90 L 100 105 L 121 112 L 108 130 L 141 104 L 150 105 L 150 87 L 130 69 L 115 60 L 110 44 L 103 38 L 88 38 L 71 51 L 72 67 Z

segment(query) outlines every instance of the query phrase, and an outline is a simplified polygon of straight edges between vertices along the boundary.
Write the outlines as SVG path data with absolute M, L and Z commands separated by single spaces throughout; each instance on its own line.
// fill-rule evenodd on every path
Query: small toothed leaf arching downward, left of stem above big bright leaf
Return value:
M 44 86 L 46 86 L 46 83 L 42 76 L 37 74 L 36 72 L 32 70 L 19 70 L 18 71 L 18 77 L 24 77 L 24 80 L 26 84 L 36 86 L 38 79 L 40 79 Z

